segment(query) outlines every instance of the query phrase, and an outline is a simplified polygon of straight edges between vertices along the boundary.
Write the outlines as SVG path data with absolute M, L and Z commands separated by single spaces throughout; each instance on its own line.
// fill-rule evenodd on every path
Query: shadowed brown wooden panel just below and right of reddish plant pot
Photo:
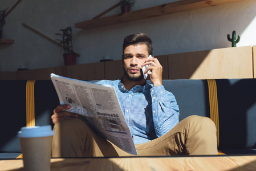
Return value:
M 104 63 L 68 66 L 67 77 L 79 80 L 102 80 L 104 79 Z

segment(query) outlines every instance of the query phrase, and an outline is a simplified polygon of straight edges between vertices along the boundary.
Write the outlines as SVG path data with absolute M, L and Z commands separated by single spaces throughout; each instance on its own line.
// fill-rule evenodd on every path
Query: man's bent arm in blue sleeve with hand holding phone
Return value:
M 151 88 L 153 122 L 156 135 L 160 137 L 178 123 L 180 114 L 175 97 L 162 86 L 162 66 L 159 60 L 154 57 L 146 59 L 143 66 L 148 64 L 151 66 L 145 73 L 150 70 L 151 83 L 154 85 Z

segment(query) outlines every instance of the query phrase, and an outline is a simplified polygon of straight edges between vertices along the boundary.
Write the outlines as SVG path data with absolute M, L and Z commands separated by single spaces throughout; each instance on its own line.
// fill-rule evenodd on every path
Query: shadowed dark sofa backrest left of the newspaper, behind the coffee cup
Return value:
M 0 81 L 0 152 L 21 152 L 17 133 L 27 123 L 26 84 L 27 80 Z M 51 115 L 59 99 L 51 80 L 36 80 L 34 96 L 35 125 L 52 125 Z

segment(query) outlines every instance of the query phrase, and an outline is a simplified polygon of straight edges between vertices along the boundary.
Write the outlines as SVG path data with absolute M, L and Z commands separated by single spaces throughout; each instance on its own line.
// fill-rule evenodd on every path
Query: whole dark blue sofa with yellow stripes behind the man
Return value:
M 256 79 L 216 79 L 213 82 L 216 83 L 215 110 L 210 107 L 212 93 L 209 94 L 209 89 L 212 92 L 212 88 L 208 80 L 163 80 L 165 89 L 176 96 L 180 120 L 190 115 L 214 115 L 219 132 L 218 149 L 226 154 L 256 154 Z M 0 81 L 0 158 L 16 158 L 21 154 L 17 132 L 27 125 L 29 90 L 34 95 L 35 125 L 53 127 L 51 115 L 59 99 L 51 80 L 36 80 L 30 89 L 26 85 L 27 80 Z

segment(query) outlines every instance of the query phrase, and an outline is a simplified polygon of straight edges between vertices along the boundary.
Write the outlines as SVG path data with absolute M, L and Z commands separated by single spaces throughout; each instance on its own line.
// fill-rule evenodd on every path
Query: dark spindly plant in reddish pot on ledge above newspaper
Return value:
M 71 27 L 67 27 L 65 29 L 61 29 L 62 33 L 55 33 L 56 35 L 59 35 L 62 37 L 62 40 L 57 39 L 59 41 L 60 45 L 64 49 L 64 65 L 74 65 L 76 64 L 76 54 L 74 54 L 73 51 L 73 44 L 72 44 L 72 29 Z

